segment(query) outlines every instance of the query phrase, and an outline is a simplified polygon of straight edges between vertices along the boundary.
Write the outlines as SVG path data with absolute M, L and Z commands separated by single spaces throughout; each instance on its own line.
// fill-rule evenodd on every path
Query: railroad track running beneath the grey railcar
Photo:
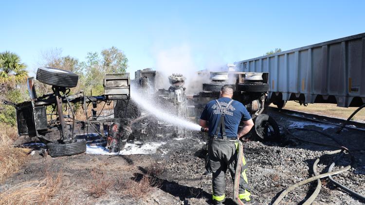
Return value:
M 312 122 L 334 125 L 334 126 L 337 126 L 338 128 L 340 128 L 342 126 L 342 124 L 346 121 L 343 119 L 331 118 L 331 117 L 327 117 L 327 116 L 315 115 L 315 114 L 298 112 L 298 111 L 293 111 L 293 110 L 286 110 L 286 109 L 279 110 L 278 108 L 275 108 L 275 107 L 266 107 L 265 109 L 267 109 L 268 111 L 277 112 L 282 115 L 290 116 L 293 118 L 298 118 L 301 120 L 308 120 L 308 121 L 312 121 Z M 345 128 L 350 129 L 350 130 L 357 130 L 357 131 L 365 132 L 365 123 L 350 120 L 349 122 L 347 122 L 347 125 L 345 126 Z

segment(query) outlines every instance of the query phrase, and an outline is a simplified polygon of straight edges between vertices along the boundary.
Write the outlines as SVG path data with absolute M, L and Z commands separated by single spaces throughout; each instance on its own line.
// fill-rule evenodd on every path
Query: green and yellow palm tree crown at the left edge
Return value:
M 10 51 L 0 53 L 0 84 L 12 85 L 23 83 L 28 78 L 27 66 L 20 62 L 20 57 Z

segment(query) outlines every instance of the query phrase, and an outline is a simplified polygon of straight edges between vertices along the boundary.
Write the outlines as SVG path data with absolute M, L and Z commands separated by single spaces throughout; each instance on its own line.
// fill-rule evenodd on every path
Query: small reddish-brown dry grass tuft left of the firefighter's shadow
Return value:
M 113 187 L 116 183 L 110 176 L 103 174 L 102 171 L 91 171 L 92 181 L 88 186 L 88 194 L 94 198 L 99 198 L 108 194 L 108 189 Z

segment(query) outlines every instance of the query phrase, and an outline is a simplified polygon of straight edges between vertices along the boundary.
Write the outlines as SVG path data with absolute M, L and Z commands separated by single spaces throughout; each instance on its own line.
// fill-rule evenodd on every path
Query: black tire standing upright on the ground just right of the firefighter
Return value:
M 280 141 L 281 139 L 279 126 L 272 117 L 266 114 L 256 117 L 254 129 L 254 135 L 258 139 L 265 141 Z

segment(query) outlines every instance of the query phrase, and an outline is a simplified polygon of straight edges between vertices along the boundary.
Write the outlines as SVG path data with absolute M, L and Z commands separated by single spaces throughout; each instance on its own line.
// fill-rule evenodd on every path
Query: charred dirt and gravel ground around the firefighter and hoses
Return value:
M 293 127 L 301 126 L 303 120 L 283 116 L 280 113 L 269 113 L 278 124 L 290 128 L 290 131 L 307 140 L 336 145 L 322 135 Z M 311 125 L 311 124 L 312 125 Z M 321 127 L 320 124 L 305 124 L 305 128 L 323 131 L 349 148 L 353 152 L 353 167 L 346 172 L 334 176 L 338 182 L 348 188 L 365 195 L 365 132 L 343 130 L 335 134 L 337 127 Z M 326 129 L 323 129 L 326 128 Z M 178 140 L 179 139 L 179 140 Z M 36 153 L 29 156 L 23 168 L 11 178 L 3 182 L 0 191 L 5 191 L 12 185 L 30 180 L 41 180 L 46 172 L 56 175 L 62 171 L 63 188 L 58 192 L 59 197 L 67 204 L 109 204 L 109 205 L 206 205 L 211 198 L 211 175 L 203 175 L 204 158 L 201 147 L 205 137 L 200 133 L 192 133 L 181 139 L 168 138 L 158 148 L 156 154 L 136 155 L 93 155 L 78 154 L 69 157 L 42 157 Z M 275 197 L 292 184 L 313 176 L 312 164 L 320 158 L 317 166 L 319 173 L 327 172 L 330 163 L 339 158 L 340 154 L 326 154 L 335 148 L 313 145 L 285 136 L 281 142 L 248 141 L 244 143 L 244 153 L 249 159 L 248 178 L 253 188 L 253 197 L 257 205 L 271 204 Z M 349 154 L 336 160 L 336 168 L 347 166 Z M 158 185 L 148 189 L 147 193 L 135 193 L 130 196 L 130 181 L 134 186 L 141 182 L 144 174 L 155 174 L 154 180 Z M 108 182 L 107 192 L 95 196 L 92 188 Z M 233 204 L 232 181 L 227 174 L 226 205 Z M 155 184 L 153 184 L 155 185 Z M 280 204 L 302 204 L 314 191 L 316 182 L 293 190 Z M 129 192 L 129 193 L 128 193 Z M 333 186 L 328 179 L 322 180 L 322 189 L 314 201 L 315 205 L 360 205 L 355 197 Z

